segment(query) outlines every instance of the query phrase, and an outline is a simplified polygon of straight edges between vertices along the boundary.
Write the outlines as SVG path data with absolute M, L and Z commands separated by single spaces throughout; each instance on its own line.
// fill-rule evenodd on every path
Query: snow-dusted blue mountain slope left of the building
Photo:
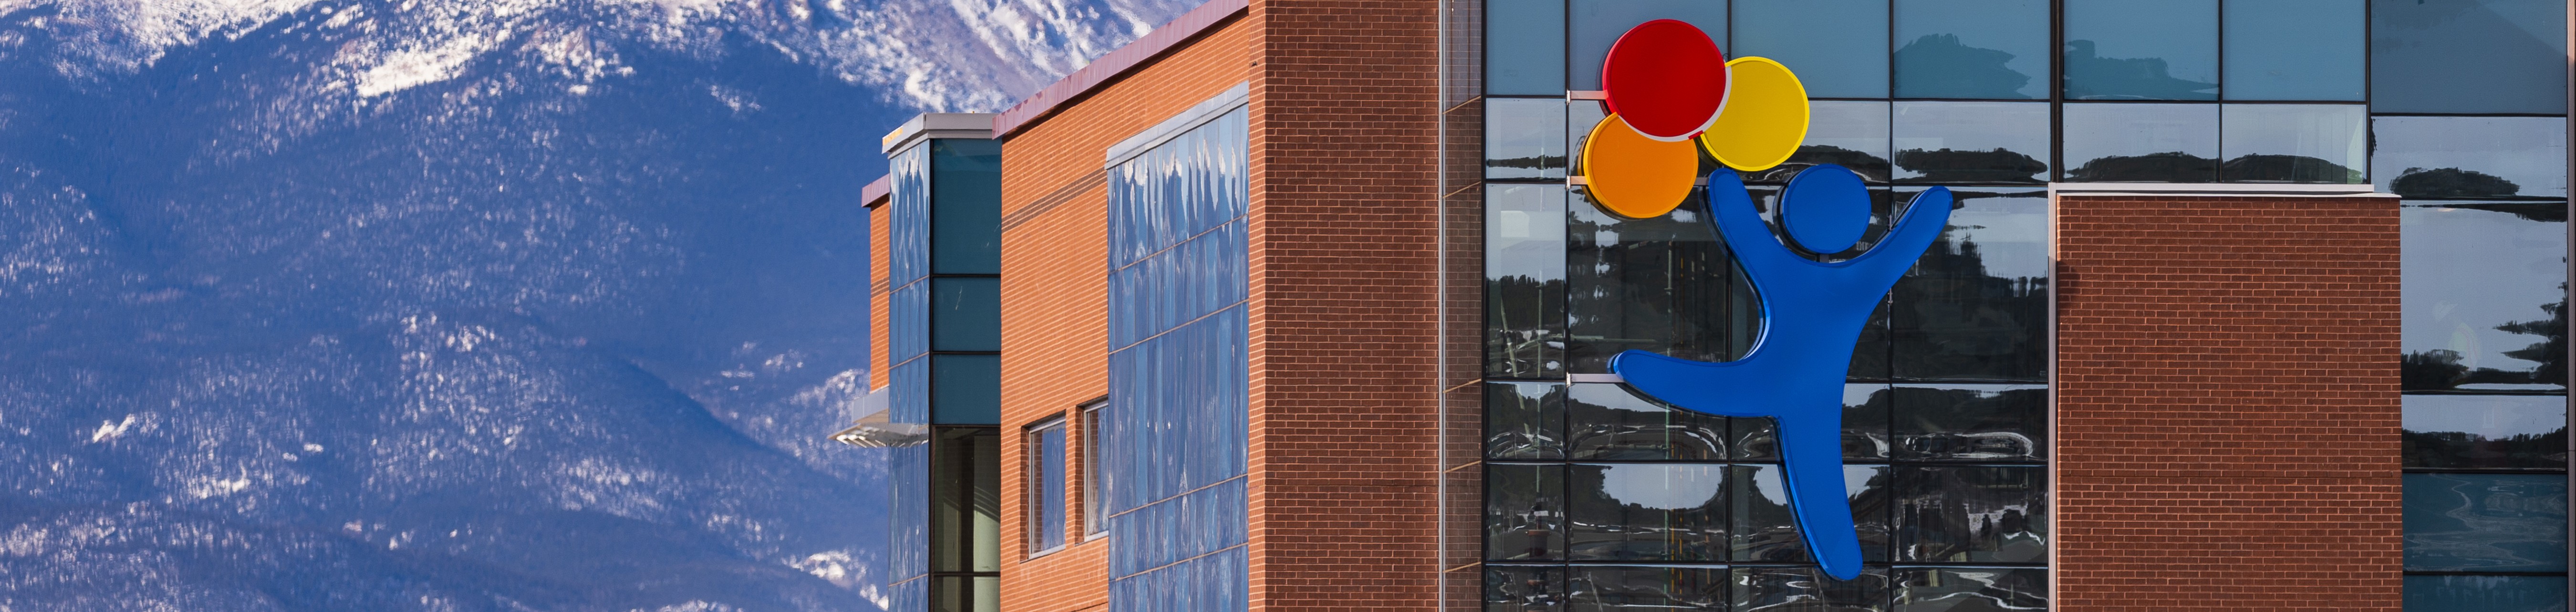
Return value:
M 876 609 L 876 136 L 1190 0 L 0 0 L 0 609 Z

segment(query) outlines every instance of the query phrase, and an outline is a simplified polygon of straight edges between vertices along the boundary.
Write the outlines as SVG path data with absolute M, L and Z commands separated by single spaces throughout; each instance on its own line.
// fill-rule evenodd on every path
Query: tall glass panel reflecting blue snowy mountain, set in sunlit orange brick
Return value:
M 1247 111 L 1110 167 L 1110 607 L 1249 607 Z

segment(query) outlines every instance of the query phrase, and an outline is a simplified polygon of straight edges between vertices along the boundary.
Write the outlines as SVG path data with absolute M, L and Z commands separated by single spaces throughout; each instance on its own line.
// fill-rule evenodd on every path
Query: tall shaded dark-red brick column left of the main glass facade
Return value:
M 1435 607 L 1435 10 L 1252 3 L 1255 609 Z

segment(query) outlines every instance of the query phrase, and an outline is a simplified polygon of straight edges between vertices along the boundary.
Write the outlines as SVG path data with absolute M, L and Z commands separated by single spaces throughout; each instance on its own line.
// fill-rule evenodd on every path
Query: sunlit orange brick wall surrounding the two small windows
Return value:
M 1069 545 L 1028 558 L 1020 427 L 1108 393 L 1108 149 L 1252 77 L 1236 18 L 1002 141 L 1002 609 L 1108 604 L 1108 545 L 1082 535 L 1079 422 Z

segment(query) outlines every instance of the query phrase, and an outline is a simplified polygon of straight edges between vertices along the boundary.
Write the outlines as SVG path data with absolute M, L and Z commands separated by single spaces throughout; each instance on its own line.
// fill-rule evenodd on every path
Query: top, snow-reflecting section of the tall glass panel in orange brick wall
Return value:
M 1247 118 L 1234 108 L 1110 170 L 1110 270 L 1244 216 Z

